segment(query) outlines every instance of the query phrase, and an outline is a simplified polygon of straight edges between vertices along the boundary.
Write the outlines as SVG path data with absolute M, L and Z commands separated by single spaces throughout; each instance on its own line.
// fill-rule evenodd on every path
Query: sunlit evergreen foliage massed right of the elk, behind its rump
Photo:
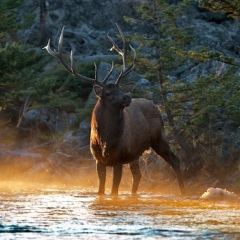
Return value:
M 197 36 L 192 36 L 191 28 L 180 21 L 191 4 L 192 1 L 184 0 L 177 4 L 151 0 L 136 8 L 141 20 L 127 17 L 126 20 L 146 26 L 144 35 L 133 37 L 139 43 L 138 70 L 152 82 L 158 80 L 162 98 L 160 108 L 168 120 L 166 129 L 170 127 L 168 132 L 174 134 L 184 156 L 194 166 L 193 160 L 198 153 L 202 156 L 197 158 L 203 158 L 203 152 L 213 152 L 213 149 L 221 152 L 226 142 L 229 152 L 231 147 L 236 150 L 233 142 L 239 139 L 230 139 L 225 125 L 229 122 L 235 128 L 240 125 L 240 64 L 237 58 L 214 49 L 196 47 L 194 39 Z M 141 54 L 142 50 L 145 54 Z M 200 75 L 194 82 L 176 78 L 181 69 L 187 70 L 187 64 L 200 67 L 213 61 L 218 69 Z M 238 135 L 235 137 L 239 138 Z M 221 158 L 220 155 L 217 157 Z

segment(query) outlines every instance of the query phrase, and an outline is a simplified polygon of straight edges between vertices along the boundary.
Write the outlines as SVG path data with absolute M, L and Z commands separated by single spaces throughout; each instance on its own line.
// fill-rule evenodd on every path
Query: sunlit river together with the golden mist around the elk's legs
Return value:
M 108 168 L 107 194 L 100 197 L 94 161 L 65 172 L 44 162 L 19 166 L 1 165 L 0 239 L 240 238 L 239 199 L 201 200 L 207 188 L 179 196 L 177 180 L 166 173 L 149 176 L 142 169 L 139 194 L 133 197 L 131 173 L 124 166 L 119 196 L 112 197 Z

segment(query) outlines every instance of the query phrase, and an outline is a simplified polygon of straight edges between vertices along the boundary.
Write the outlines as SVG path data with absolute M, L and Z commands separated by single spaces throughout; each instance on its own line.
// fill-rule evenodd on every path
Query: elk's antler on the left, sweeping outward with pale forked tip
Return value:
M 74 61 L 73 61 L 73 52 L 71 51 L 70 53 L 70 61 L 71 61 L 71 66 L 69 66 L 67 64 L 67 62 L 65 61 L 63 55 L 62 55 L 62 44 L 63 44 L 63 32 L 64 32 L 64 28 L 62 28 L 62 31 L 61 31 L 61 35 L 59 37 L 59 41 L 58 41 L 58 52 L 54 49 L 54 51 L 51 49 L 50 47 L 50 39 L 48 40 L 48 44 L 47 46 L 45 46 L 43 49 L 46 49 L 47 52 L 57 58 L 61 63 L 62 65 L 66 68 L 66 70 L 71 73 L 74 77 L 80 79 L 80 80 L 84 80 L 84 81 L 87 81 L 87 82 L 91 82 L 92 84 L 99 84 L 98 82 L 98 79 L 93 79 L 93 78 L 89 78 L 89 77 L 86 77 L 86 76 L 83 76 L 79 73 L 76 73 L 75 69 L 74 69 Z

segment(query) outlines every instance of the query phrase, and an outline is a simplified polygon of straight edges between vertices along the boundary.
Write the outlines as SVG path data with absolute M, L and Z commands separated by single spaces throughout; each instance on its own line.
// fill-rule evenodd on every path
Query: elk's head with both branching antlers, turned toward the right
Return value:
M 115 50 L 122 57 L 122 62 L 123 62 L 121 73 L 118 76 L 118 78 L 116 79 L 115 83 L 107 83 L 107 80 L 109 79 L 110 75 L 112 74 L 112 72 L 114 70 L 114 63 L 112 63 L 112 67 L 111 67 L 110 71 L 108 72 L 108 74 L 106 75 L 106 77 L 103 79 L 103 81 L 99 81 L 98 80 L 98 69 L 97 69 L 97 66 L 95 63 L 94 63 L 95 78 L 89 78 L 89 77 L 83 76 L 75 71 L 72 51 L 70 53 L 70 65 L 66 62 L 66 60 L 63 57 L 63 51 L 62 51 L 64 27 L 62 29 L 62 32 L 61 32 L 61 35 L 59 38 L 58 51 L 52 50 L 50 48 L 50 39 L 48 41 L 47 46 L 44 47 L 43 49 L 46 49 L 50 55 L 57 58 L 62 63 L 62 65 L 65 67 L 65 69 L 69 73 L 71 73 L 74 77 L 76 77 L 80 80 L 84 80 L 84 81 L 92 83 L 94 93 L 96 94 L 96 96 L 98 97 L 99 100 L 103 100 L 105 102 L 105 104 L 109 104 L 109 105 L 111 104 L 112 107 L 123 108 L 125 106 L 128 106 L 131 103 L 131 98 L 127 93 L 132 90 L 134 83 L 127 83 L 127 84 L 124 84 L 123 86 L 119 86 L 119 82 L 121 81 L 121 79 L 123 79 L 125 76 L 127 76 L 130 72 L 133 71 L 133 69 L 135 67 L 135 61 L 136 61 L 136 51 L 129 44 L 129 47 L 133 51 L 134 56 L 133 56 L 132 64 L 129 67 L 127 67 L 126 38 L 125 38 L 122 30 L 120 29 L 120 27 L 117 24 L 116 24 L 116 27 L 122 38 L 123 50 L 121 50 L 116 45 L 116 43 L 113 41 L 113 39 L 109 35 L 107 35 L 108 39 L 113 44 L 110 51 Z

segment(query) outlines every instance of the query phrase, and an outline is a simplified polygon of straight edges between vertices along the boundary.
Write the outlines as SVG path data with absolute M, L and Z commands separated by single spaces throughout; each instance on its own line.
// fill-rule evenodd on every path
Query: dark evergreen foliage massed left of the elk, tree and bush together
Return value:
M 44 67 L 51 58 L 45 51 L 22 44 L 16 38 L 15 32 L 28 22 L 18 21 L 16 8 L 23 3 L 24 0 L 0 3 L 0 110 L 10 107 L 19 111 L 30 97 L 31 107 L 75 112 L 83 107 L 91 86 L 75 79 L 62 67 L 45 72 Z M 77 70 L 88 76 L 94 74 L 92 64 L 81 65 Z

